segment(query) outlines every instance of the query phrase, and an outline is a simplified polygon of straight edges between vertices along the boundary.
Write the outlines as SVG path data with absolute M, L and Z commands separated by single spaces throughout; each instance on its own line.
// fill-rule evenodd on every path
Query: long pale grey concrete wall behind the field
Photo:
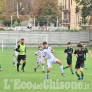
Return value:
M 0 32 L 0 46 L 2 40 L 5 39 L 25 39 L 25 43 L 29 47 L 37 46 L 43 41 L 48 41 L 51 46 L 65 46 L 67 42 L 71 42 L 73 46 L 77 43 L 86 43 L 92 45 L 92 32 Z M 14 43 L 14 42 L 13 42 Z M 11 41 L 12 44 L 12 41 Z

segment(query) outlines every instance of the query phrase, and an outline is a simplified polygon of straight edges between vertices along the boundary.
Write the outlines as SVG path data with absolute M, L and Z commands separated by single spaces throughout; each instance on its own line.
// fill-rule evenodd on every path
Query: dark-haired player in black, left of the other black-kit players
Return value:
M 71 43 L 67 43 L 67 48 L 64 51 L 64 56 L 67 59 L 67 64 L 68 66 L 64 67 L 64 69 L 69 68 L 71 70 L 71 73 L 74 74 L 73 69 L 72 69 L 72 53 L 73 53 L 73 48 L 71 47 Z M 66 56 L 67 54 L 67 56 Z

